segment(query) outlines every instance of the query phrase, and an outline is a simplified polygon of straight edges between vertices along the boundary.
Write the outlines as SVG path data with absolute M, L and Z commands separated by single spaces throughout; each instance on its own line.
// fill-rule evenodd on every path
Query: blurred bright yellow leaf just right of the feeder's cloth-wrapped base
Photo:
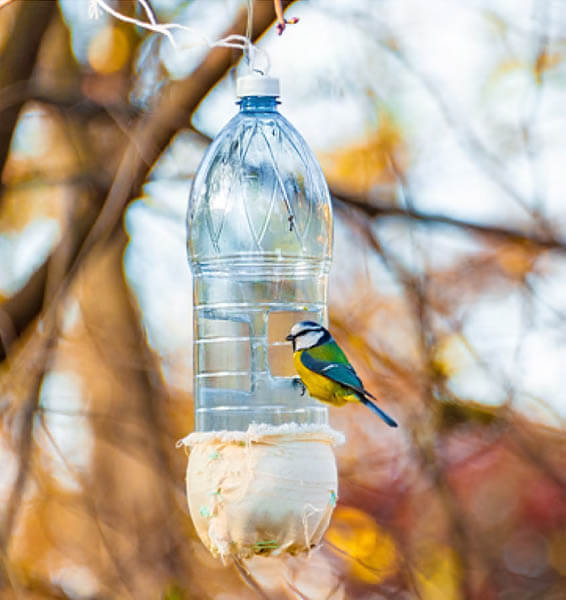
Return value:
M 339 506 L 326 532 L 327 541 L 349 563 L 350 573 L 366 583 L 380 583 L 397 570 L 393 538 L 367 513 Z

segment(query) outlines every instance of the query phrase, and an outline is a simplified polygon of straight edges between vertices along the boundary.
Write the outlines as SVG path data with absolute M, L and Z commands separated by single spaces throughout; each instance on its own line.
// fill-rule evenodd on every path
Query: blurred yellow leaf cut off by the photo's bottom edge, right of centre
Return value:
M 421 600 L 459 600 L 460 565 L 454 550 L 422 548 L 416 558 L 416 582 Z

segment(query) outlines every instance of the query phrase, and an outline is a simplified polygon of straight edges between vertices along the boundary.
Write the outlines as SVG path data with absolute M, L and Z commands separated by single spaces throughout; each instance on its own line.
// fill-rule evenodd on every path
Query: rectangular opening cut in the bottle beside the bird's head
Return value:
M 267 359 L 273 377 L 296 377 L 293 364 L 293 348 L 285 340 L 291 327 L 299 321 L 320 323 L 319 311 L 278 310 L 270 311 L 267 320 Z

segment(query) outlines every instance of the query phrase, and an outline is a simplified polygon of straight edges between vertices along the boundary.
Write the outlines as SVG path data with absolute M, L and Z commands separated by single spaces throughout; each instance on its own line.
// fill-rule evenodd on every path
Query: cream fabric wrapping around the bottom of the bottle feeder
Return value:
M 297 554 L 324 535 L 338 496 L 328 426 L 251 425 L 247 431 L 196 432 L 187 498 L 196 531 L 214 556 Z

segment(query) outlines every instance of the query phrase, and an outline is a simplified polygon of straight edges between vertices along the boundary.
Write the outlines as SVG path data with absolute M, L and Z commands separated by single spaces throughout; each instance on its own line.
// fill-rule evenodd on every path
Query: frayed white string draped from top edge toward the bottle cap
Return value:
M 193 35 L 198 36 L 201 39 L 201 42 L 190 44 L 190 47 L 195 46 L 207 46 L 208 48 L 235 48 L 237 50 L 242 50 L 244 53 L 247 53 L 249 56 L 249 66 L 251 71 L 257 71 L 262 74 L 269 73 L 269 69 L 271 67 L 271 63 L 269 60 L 269 55 L 263 48 L 258 48 L 253 44 L 249 37 L 245 35 L 231 34 L 213 42 L 210 40 L 204 33 L 195 29 L 193 27 L 188 27 L 187 25 L 181 25 L 180 23 L 158 23 L 155 19 L 155 16 L 147 2 L 147 0 L 138 0 L 141 4 L 144 12 L 149 20 L 140 21 L 134 17 L 129 17 L 127 15 L 123 15 L 122 13 L 114 10 L 111 6 L 109 6 L 105 0 L 89 0 L 88 6 L 88 15 L 91 19 L 98 19 L 100 17 L 100 10 L 107 12 L 109 15 L 112 15 L 115 19 L 123 21 L 124 23 L 131 23 L 132 25 L 137 25 L 143 29 L 147 29 L 149 31 L 153 31 L 155 33 L 160 33 L 167 37 L 167 39 L 171 42 L 175 49 L 179 49 L 177 42 L 175 41 L 172 30 L 181 29 L 183 31 L 187 31 Z M 188 47 L 188 45 L 184 44 L 183 47 Z M 256 62 L 258 58 L 258 54 L 261 54 L 264 61 L 265 67 L 263 69 L 259 69 L 256 67 Z

